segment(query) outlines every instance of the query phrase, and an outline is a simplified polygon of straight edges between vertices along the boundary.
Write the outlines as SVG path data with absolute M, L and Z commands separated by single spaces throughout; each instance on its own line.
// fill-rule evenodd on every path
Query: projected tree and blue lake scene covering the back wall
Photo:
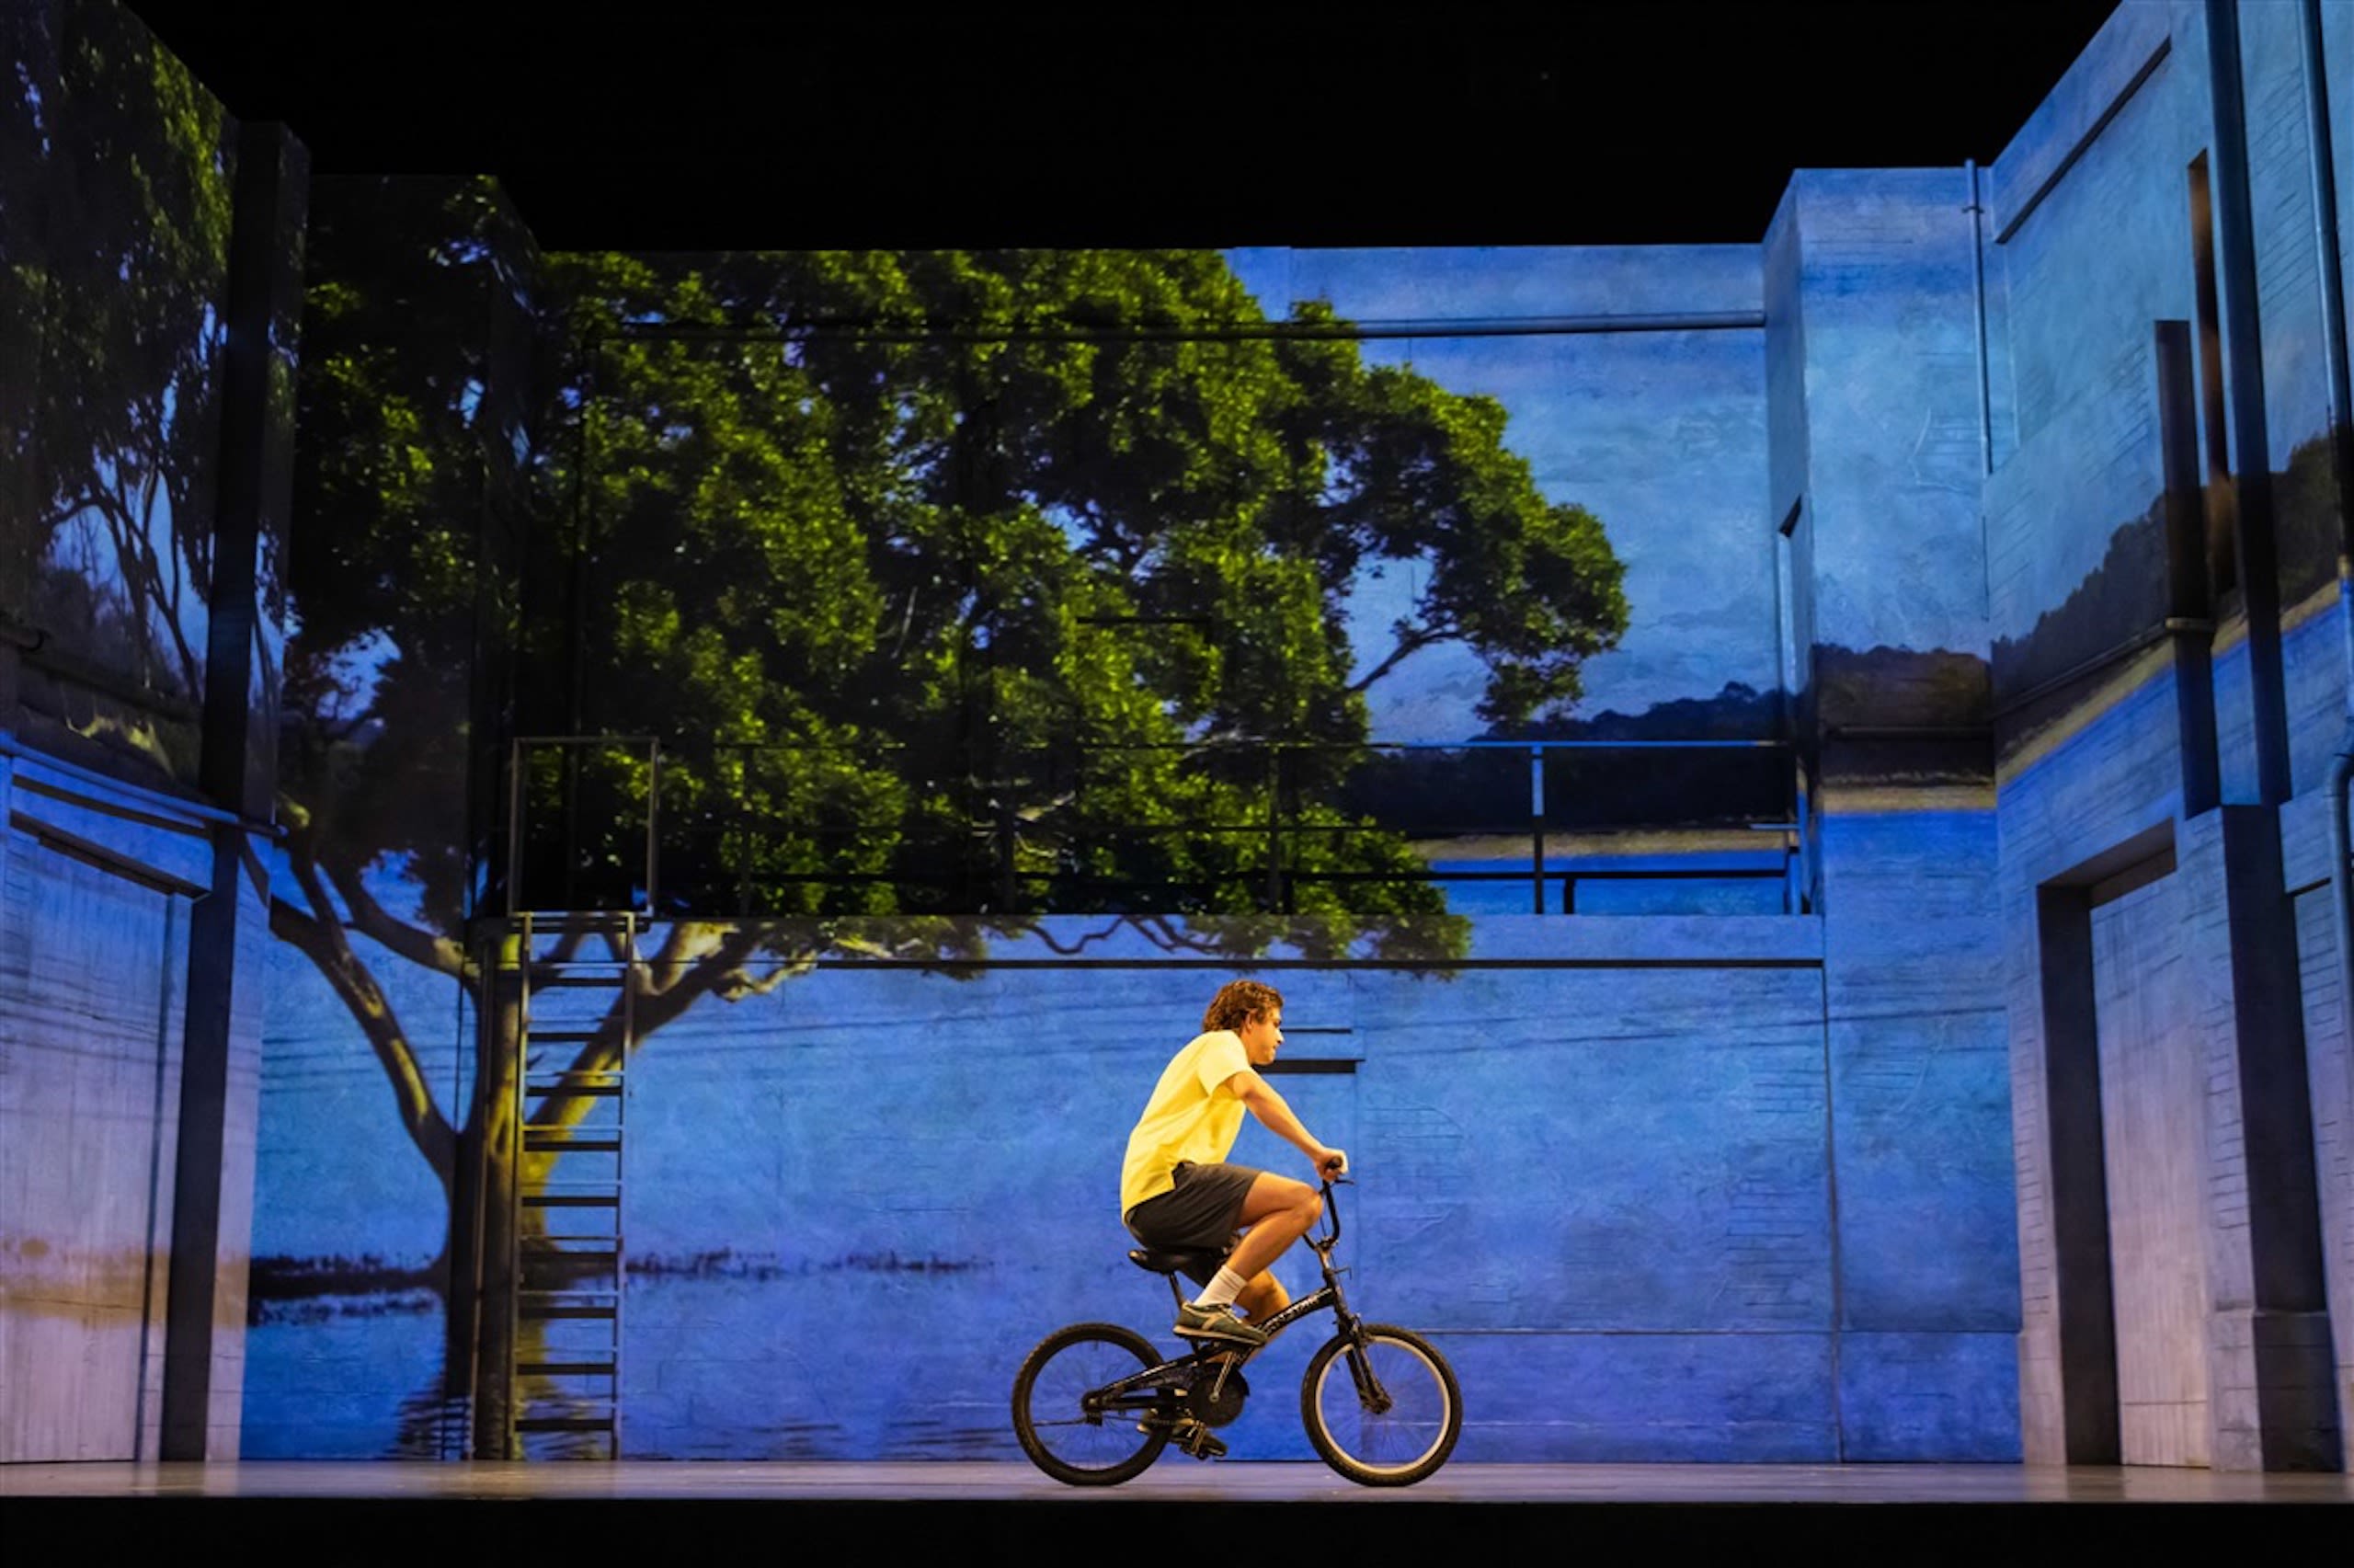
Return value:
M 1580 1453 L 1829 1450 L 1817 961 L 1643 918 L 1808 899 L 1754 250 L 534 257 L 384 181 L 313 252 L 250 1455 L 1012 1457 L 1024 1335 L 1156 1311 L 1215 982 L 1358 961 L 1285 1095 L 1387 1302 L 1653 1335 Z M 1469 968 L 1570 925 L 1707 977 Z M 508 1257 L 584 1314 L 476 1318 Z

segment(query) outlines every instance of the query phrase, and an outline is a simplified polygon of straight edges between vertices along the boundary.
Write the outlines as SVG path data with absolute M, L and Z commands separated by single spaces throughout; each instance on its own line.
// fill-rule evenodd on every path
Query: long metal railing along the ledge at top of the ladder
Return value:
M 539 763 L 537 777 L 541 793 L 565 791 L 553 812 L 560 826 L 548 822 L 548 812 L 534 817 L 527 805 L 527 768 L 541 746 L 563 749 L 563 765 Z M 619 819 L 598 831 L 584 831 L 579 822 L 588 808 L 579 768 L 588 749 L 605 749 L 607 763 L 619 753 L 643 753 L 645 791 L 626 803 L 643 817 L 631 819 L 626 831 Z M 1102 822 L 1073 810 L 1090 779 L 1123 779 L 1123 789 L 1135 793 L 1139 753 L 1175 753 L 1170 760 L 1179 775 L 1212 777 L 1229 786 L 1229 800 L 1243 789 L 1245 817 Z M 1683 756 L 1669 760 L 1676 753 Z M 1704 753 L 1749 753 L 1756 765 L 1690 760 Z M 810 763 L 826 756 L 855 756 L 866 768 L 897 775 L 909 793 L 930 791 L 953 805 L 925 817 L 873 822 L 845 819 L 862 810 L 857 800 L 791 815 L 770 805 L 779 793 L 822 796 L 824 782 Z M 1514 765 L 1516 758 L 1525 772 Z M 1118 772 L 1106 772 L 1106 763 Z M 1605 791 L 1594 789 L 1598 765 L 1608 768 L 1608 796 L 1620 803 L 1615 815 L 1601 803 Z M 1709 796 L 1711 768 L 1725 793 L 1737 798 L 1714 810 L 1678 812 L 1678 791 L 1685 808 Z M 1335 805 L 1358 822 L 1302 819 L 1304 779 L 1314 779 L 1316 805 Z M 692 796 L 690 803 L 664 808 L 666 782 Z M 1518 789 L 1525 789 L 1525 803 L 1507 805 Z M 1299 892 L 1318 885 L 1518 883 L 1528 888 L 1528 911 L 1580 913 L 1580 888 L 1591 885 L 1777 881 L 1780 911 L 1803 913 L 1810 906 L 1806 793 L 1803 768 L 1782 739 L 1109 742 L 1000 749 L 979 758 L 949 746 L 918 753 L 909 744 L 711 742 L 701 758 L 692 758 L 678 742 L 666 751 L 652 737 L 525 737 L 511 749 L 508 890 L 511 899 L 520 899 L 516 909 L 548 906 L 548 876 L 560 873 L 565 906 L 711 916 L 784 913 L 791 902 L 779 897 L 784 890 L 824 895 L 871 888 L 897 890 L 890 902 L 902 913 L 1076 913 L 1109 906 L 1292 913 Z M 1655 817 L 1629 810 L 1631 800 L 1657 808 Z M 619 845 L 633 841 L 638 826 L 645 833 L 645 871 L 624 888 L 624 859 L 636 855 L 624 857 Z M 1718 836 L 1718 845 L 1702 855 L 1725 864 L 1674 864 L 1693 859 L 1693 852 L 1676 850 L 1615 850 L 1608 852 L 1610 864 L 1587 864 L 1603 857 L 1591 852 L 1596 841 L 1624 841 L 1629 833 L 1693 838 L 1695 831 Z M 1318 838 L 1358 833 L 1412 841 L 1422 864 L 1370 871 L 1318 864 L 1330 859 L 1314 852 Z M 1725 848 L 1725 833 L 1756 833 L 1756 848 Z M 525 869 L 527 838 L 544 862 L 537 876 Z M 1511 859 L 1497 850 L 1514 838 L 1528 845 L 1518 864 L 1478 864 Z M 1170 841 L 1172 850 L 1189 841 L 1224 841 L 1226 852 L 1208 857 L 1222 862 L 1210 871 L 1186 871 L 1172 864 L 1186 859 L 1182 852 L 1156 852 L 1158 841 Z M 1483 843 L 1450 864 L 1443 855 L 1450 841 Z M 581 883 L 596 881 L 584 871 L 591 857 L 581 845 L 600 845 L 607 885 L 598 897 L 581 897 Z M 779 857 L 779 845 L 798 855 Z M 1104 862 L 1132 869 L 1088 869 Z M 1165 869 L 1151 869 L 1153 862 Z M 666 869 L 669 890 L 657 888 L 657 869 Z

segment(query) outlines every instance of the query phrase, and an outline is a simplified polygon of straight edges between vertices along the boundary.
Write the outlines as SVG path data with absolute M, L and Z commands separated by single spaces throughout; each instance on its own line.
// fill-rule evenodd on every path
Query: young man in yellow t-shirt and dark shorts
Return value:
M 1121 1163 L 1121 1222 L 1146 1248 L 1163 1253 L 1233 1253 L 1215 1271 L 1186 1269 L 1201 1293 L 1177 1311 L 1186 1340 L 1266 1344 L 1259 1328 L 1290 1304 L 1266 1267 L 1306 1236 L 1323 1198 L 1306 1182 L 1250 1165 L 1226 1154 L 1243 1130 L 1243 1111 L 1309 1156 L 1318 1175 L 1339 1175 L 1349 1156 L 1328 1149 L 1299 1125 L 1257 1069 L 1283 1048 L 1283 994 L 1257 979 L 1219 986 L 1201 1034 L 1170 1057 L 1128 1135 Z M 1236 1241 L 1236 1231 L 1243 1231 Z M 1236 1316 L 1248 1314 L 1250 1321 Z

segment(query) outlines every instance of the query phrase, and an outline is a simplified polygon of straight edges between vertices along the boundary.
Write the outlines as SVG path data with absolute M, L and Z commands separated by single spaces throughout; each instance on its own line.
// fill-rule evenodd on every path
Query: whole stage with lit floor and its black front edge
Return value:
M 2192 1542 L 2279 1554 L 2305 1537 L 2314 1561 L 2328 1561 L 2354 1540 L 2354 1511 L 2333 1507 L 2349 1502 L 2342 1474 L 2020 1464 L 1450 1464 L 1405 1490 L 1358 1488 L 1321 1464 L 1175 1455 L 1104 1490 L 1057 1486 L 1026 1464 L 956 1462 L 7 1464 L 0 1542 L 9 1568 L 195 1552 L 231 1563 L 450 1568 L 492 1552 L 600 1561 L 619 1549 L 760 1540 L 944 1561 L 1040 1552 L 1191 1561 L 1229 1530 L 1255 1549 L 1314 1549 L 1325 1561 L 1434 1547 L 1718 1544 L 1897 1552 L 1919 1563 Z

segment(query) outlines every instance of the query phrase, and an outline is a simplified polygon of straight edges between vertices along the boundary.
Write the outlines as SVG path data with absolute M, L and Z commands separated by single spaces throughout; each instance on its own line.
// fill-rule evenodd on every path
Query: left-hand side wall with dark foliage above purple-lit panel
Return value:
M 235 1457 L 304 158 L 0 35 L 0 1460 Z

